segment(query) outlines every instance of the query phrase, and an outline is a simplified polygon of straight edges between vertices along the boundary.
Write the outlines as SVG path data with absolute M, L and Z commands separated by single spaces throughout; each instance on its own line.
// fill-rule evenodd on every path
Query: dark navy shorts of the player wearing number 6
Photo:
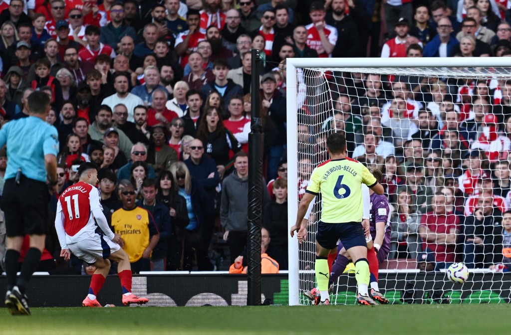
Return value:
M 339 240 L 346 250 L 367 246 L 364 228 L 360 222 L 324 223 L 319 221 L 316 241 L 321 247 L 325 249 L 337 248 Z

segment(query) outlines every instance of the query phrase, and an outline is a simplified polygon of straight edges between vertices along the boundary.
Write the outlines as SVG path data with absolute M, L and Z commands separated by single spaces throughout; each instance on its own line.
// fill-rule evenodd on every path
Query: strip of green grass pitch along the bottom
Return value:
M 0 310 L 0 334 L 506 334 L 509 304 Z

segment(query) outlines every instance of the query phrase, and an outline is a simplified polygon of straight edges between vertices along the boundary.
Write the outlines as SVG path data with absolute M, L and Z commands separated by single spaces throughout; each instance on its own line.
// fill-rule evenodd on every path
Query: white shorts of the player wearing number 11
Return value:
M 98 258 L 107 259 L 112 253 L 121 249 L 120 245 L 113 243 L 103 234 L 95 234 L 92 238 L 67 246 L 75 256 L 89 264 L 94 264 Z

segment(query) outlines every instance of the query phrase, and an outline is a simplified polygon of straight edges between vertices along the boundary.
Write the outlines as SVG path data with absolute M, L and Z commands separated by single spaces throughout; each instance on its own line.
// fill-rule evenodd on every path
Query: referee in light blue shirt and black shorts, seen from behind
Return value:
M 0 129 L 0 147 L 7 145 L 2 197 L 7 230 L 5 305 L 12 315 L 30 315 L 26 290 L 44 248 L 48 187 L 57 189 L 58 133 L 45 122 L 50 108 L 48 94 L 35 91 L 28 97 L 29 116 L 10 121 Z M 27 234 L 30 249 L 16 276 L 19 251 Z

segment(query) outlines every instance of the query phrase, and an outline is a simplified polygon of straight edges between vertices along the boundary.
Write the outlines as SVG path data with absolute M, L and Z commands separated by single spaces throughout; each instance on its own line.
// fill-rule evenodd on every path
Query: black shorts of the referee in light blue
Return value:
M 46 183 L 21 177 L 5 181 L 2 208 L 5 213 L 8 237 L 44 235 L 48 231 L 48 202 L 50 193 Z

